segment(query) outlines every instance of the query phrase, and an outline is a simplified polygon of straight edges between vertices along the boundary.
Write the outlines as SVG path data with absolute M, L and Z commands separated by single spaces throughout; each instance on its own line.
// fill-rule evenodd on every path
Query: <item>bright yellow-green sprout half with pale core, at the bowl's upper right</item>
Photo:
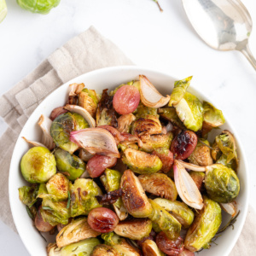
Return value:
M 175 105 L 175 108 L 177 116 L 189 130 L 201 130 L 203 107 L 196 96 L 187 91 L 181 101 Z

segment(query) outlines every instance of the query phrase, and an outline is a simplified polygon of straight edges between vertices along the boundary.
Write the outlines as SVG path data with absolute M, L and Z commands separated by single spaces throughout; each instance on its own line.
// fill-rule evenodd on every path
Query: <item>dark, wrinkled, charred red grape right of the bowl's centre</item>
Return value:
M 194 131 L 182 131 L 173 139 L 171 151 L 174 158 L 184 160 L 189 157 L 195 149 L 197 137 Z

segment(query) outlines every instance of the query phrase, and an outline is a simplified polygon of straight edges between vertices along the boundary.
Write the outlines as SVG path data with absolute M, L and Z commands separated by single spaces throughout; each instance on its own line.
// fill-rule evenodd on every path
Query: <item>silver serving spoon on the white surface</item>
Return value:
M 248 47 L 253 22 L 240 0 L 183 0 L 195 31 L 213 49 L 240 50 L 256 70 Z

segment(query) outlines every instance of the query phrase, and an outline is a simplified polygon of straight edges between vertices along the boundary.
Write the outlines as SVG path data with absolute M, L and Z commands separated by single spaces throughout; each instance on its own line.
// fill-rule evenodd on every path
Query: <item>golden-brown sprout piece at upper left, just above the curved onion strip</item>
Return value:
M 79 93 L 79 106 L 85 108 L 95 118 L 97 109 L 97 95 L 95 90 L 84 88 Z

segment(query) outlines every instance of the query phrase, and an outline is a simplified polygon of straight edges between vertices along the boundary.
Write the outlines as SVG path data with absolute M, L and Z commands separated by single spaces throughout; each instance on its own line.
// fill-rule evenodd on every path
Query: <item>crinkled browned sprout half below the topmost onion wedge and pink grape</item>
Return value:
M 160 120 L 153 115 L 148 115 L 146 119 L 139 118 L 131 125 L 131 134 L 137 137 L 160 134 L 161 132 L 162 125 L 160 124 Z

